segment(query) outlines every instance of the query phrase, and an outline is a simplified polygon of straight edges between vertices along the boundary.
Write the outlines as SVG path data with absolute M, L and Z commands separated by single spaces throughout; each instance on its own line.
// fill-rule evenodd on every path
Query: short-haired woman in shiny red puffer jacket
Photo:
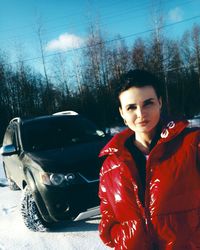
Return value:
M 119 112 L 127 129 L 101 151 L 103 242 L 114 249 L 200 249 L 200 130 L 161 120 L 157 79 L 125 75 Z

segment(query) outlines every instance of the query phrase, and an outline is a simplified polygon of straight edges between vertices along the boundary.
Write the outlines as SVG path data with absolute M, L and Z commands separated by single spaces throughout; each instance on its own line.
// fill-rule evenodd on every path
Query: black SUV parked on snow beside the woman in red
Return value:
M 1 154 L 12 190 L 22 189 L 25 225 L 46 231 L 53 222 L 99 213 L 99 151 L 109 136 L 77 113 L 10 121 Z

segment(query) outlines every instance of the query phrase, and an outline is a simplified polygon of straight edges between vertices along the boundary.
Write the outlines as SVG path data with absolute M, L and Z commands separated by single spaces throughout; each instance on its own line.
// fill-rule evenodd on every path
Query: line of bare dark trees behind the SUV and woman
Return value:
M 40 44 L 41 40 L 40 40 Z M 57 54 L 45 74 L 23 60 L 14 66 L 0 52 L 0 136 L 13 117 L 75 110 L 101 127 L 122 122 L 116 90 L 120 76 L 130 69 L 147 69 L 160 79 L 169 115 L 191 117 L 200 111 L 200 25 L 194 24 L 179 39 L 158 30 L 138 37 L 131 45 L 117 36 L 109 41 L 91 26 L 86 45 L 73 56 Z

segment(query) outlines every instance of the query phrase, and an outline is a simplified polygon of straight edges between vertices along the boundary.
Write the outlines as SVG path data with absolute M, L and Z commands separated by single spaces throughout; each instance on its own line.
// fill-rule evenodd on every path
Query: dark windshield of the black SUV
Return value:
M 79 116 L 36 119 L 21 129 L 24 150 L 41 151 L 87 143 L 105 137 L 93 123 Z

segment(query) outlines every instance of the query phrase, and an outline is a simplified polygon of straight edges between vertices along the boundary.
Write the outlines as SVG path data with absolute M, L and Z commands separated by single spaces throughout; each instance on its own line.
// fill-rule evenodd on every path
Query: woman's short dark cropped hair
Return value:
M 118 86 L 118 98 L 120 94 L 131 87 L 145 87 L 152 86 L 156 92 L 158 98 L 161 97 L 161 83 L 157 77 L 146 71 L 146 70 L 130 70 L 127 73 L 123 74 L 120 78 L 120 83 Z

